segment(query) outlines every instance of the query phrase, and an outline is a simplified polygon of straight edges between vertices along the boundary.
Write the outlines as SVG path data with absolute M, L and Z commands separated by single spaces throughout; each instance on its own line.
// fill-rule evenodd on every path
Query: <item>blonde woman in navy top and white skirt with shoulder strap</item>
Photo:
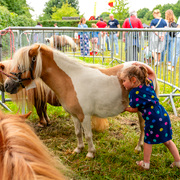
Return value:
M 167 23 L 164 19 L 161 18 L 161 13 L 159 9 L 153 11 L 154 19 L 151 21 L 151 28 L 165 28 Z M 160 64 L 161 53 L 165 48 L 165 33 L 164 32 L 152 32 L 150 41 L 150 51 L 155 59 L 154 65 L 157 66 Z

